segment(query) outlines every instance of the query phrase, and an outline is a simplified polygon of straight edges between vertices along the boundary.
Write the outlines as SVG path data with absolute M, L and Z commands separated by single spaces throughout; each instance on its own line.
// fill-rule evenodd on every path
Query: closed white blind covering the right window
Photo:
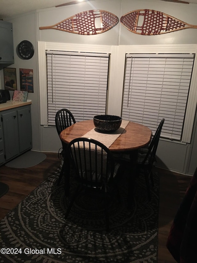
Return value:
M 161 136 L 181 140 L 193 63 L 193 54 L 128 54 L 122 117 L 153 133 L 165 118 Z

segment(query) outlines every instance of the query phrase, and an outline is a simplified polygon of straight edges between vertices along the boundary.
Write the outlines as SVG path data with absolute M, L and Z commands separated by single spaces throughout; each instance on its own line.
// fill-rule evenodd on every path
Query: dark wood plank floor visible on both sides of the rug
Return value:
M 0 182 L 10 187 L 6 195 L 0 198 L 0 219 L 59 167 L 57 153 L 46 153 L 46 156 L 40 164 L 26 169 L 0 166 Z M 158 168 L 155 171 L 159 172 L 160 177 L 158 262 L 172 263 L 176 261 L 166 248 L 167 236 L 191 177 Z

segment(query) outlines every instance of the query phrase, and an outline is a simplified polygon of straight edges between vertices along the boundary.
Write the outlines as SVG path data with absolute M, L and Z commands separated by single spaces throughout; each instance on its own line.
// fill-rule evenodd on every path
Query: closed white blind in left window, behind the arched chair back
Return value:
M 109 54 L 47 51 L 48 125 L 59 109 L 76 121 L 105 114 Z

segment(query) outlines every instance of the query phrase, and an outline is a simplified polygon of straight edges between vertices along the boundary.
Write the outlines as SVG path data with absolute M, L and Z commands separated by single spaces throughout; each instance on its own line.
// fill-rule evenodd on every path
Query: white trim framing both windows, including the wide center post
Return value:
M 193 74 L 191 78 L 190 92 L 188 97 L 185 123 L 183 127 L 183 142 L 191 141 L 196 103 L 197 103 L 197 44 L 165 44 L 165 45 L 86 45 L 51 43 L 38 41 L 38 66 L 39 66 L 39 86 L 40 86 L 40 121 L 41 125 L 47 125 L 47 83 L 46 83 L 46 50 L 78 51 L 78 52 L 98 52 L 110 53 L 111 64 L 109 74 L 108 106 L 107 113 L 121 115 L 124 64 L 125 55 L 150 54 L 150 53 L 195 53 Z M 121 99 L 120 99 L 121 98 Z

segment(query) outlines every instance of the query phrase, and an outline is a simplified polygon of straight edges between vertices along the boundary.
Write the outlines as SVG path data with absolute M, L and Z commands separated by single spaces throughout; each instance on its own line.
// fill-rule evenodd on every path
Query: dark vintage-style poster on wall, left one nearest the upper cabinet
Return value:
M 5 90 L 17 90 L 16 68 L 3 68 Z

